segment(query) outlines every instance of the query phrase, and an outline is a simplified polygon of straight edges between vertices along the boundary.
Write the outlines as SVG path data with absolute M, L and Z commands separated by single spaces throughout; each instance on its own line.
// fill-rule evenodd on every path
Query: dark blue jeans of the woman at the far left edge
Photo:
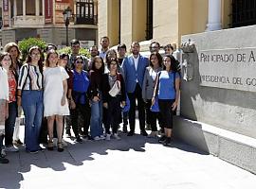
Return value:
M 15 121 L 17 117 L 17 103 L 10 102 L 9 103 L 9 117 L 5 123 L 5 145 L 12 146 L 12 136 L 13 136 L 13 129 L 15 127 Z

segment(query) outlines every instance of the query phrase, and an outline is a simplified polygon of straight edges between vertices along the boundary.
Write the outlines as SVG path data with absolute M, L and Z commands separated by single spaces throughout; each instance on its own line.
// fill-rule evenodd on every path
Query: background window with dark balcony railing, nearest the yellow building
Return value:
M 78 0 L 77 4 L 77 25 L 94 25 L 94 4 L 93 0 Z

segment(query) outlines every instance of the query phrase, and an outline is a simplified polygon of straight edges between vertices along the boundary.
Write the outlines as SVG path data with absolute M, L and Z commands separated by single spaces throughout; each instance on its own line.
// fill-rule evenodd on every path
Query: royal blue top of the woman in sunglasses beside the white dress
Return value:
M 76 103 L 85 104 L 86 102 L 86 92 L 89 87 L 89 78 L 86 71 L 82 70 L 79 74 L 76 70 L 73 70 L 73 92 L 72 96 Z

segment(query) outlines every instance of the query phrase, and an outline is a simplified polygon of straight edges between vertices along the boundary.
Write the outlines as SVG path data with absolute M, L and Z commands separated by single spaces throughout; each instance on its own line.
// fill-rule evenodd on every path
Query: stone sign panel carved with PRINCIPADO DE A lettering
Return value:
M 202 50 L 198 59 L 200 85 L 256 92 L 256 48 Z

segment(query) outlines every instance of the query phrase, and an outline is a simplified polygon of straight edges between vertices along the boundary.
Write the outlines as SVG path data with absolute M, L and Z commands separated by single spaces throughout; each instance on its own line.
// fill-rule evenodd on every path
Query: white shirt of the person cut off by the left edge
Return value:
M 3 67 L 0 67 L 0 86 L 0 99 L 9 100 L 8 72 Z

